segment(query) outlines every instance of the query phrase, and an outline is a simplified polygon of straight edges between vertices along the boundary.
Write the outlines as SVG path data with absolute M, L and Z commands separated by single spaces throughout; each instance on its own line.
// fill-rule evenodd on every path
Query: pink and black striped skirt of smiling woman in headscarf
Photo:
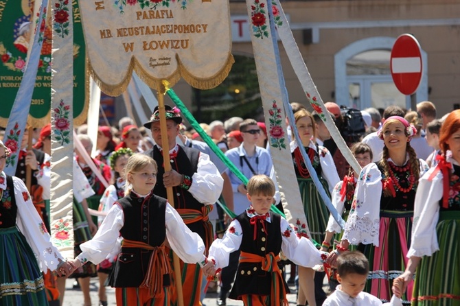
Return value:
M 369 260 L 369 276 L 365 292 L 377 296 L 383 302 L 389 302 L 393 280 L 400 276 L 408 259 L 411 245 L 413 212 L 380 211 L 379 246 L 360 244 L 358 250 Z M 410 305 L 413 282 L 407 286 L 402 296 L 404 305 Z

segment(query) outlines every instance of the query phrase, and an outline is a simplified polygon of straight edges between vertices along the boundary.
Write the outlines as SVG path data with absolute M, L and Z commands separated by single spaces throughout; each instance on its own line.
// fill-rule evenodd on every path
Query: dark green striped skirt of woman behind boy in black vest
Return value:
M 321 184 L 330 198 L 327 182 L 320 178 Z M 308 228 L 315 242 L 321 244 L 329 220 L 329 211 L 324 204 L 323 198 L 318 193 L 317 187 L 311 178 L 297 178 L 299 183 L 300 196 L 303 202 L 303 211 L 307 217 Z

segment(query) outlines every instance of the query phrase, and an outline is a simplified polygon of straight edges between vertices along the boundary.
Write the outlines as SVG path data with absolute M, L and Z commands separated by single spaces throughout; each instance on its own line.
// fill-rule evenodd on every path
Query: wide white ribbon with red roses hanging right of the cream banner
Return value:
M 282 195 L 286 219 L 294 226 L 297 235 L 310 237 L 290 154 L 288 134 L 286 133 L 286 111 L 283 105 L 284 89 L 279 82 L 283 77 L 279 75 L 277 69 L 277 59 L 273 49 L 276 39 L 273 38 L 270 29 L 267 4 L 266 0 L 246 0 L 246 7 L 251 20 L 251 40 L 264 106 L 268 143 L 271 148 L 271 157 L 277 174 L 277 183 Z M 274 10 L 276 12 L 276 6 Z M 275 24 L 281 25 L 277 16 L 274 17 Z

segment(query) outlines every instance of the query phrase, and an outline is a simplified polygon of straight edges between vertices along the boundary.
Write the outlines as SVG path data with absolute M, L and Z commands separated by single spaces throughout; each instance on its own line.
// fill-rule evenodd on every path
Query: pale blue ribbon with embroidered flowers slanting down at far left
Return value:
M 46 19 L 46 8 L 48 0 L 43 0 L 41 3 L 40 12 L 38 13 L 38 25 Z M 3 14 L 3 11 L 0 11 Z M 3 15 L 1 15 L 3 18 Z M 33 30 L 32 30 L 33 32 Z M 6 132 L 3 137 L 3 143 L 10 148 L 11 155 L 6 159 L 5 174 L 14 176 L 16 173 L 16 165 L 19 158 L 19 150 L 21 149 L 21 142 L 24 136 L 24 130 L 27 124 L 27 116 L 29 113 L 30 101 L 32 99 L 32 92 L 34 91 L 35 78 L 38 70 L 38 61 L 40 60 L 40 50 L 43 43 L 44 29 L 42 27 L 36 27 L 34 34 L 34 40 L 32 44 L 32 50 L 30 51 L 30 58 L 23 63 L 24 77 L 19 83 L 19 91 L 17 92 L 14 104 L 9 114 L 8 124 L 6 124 Z M 1 47 L 1 46 L 0 46 Z M 22 64 L 22 62 L 21 62 Z M 6 93 L 4 94 L 6 95 Z M 3 88 L 2 88 L 2 96 Z M 3 104 L 2 107 L 3 108 Z M 0 109 L 1 109 L 0 108 Z

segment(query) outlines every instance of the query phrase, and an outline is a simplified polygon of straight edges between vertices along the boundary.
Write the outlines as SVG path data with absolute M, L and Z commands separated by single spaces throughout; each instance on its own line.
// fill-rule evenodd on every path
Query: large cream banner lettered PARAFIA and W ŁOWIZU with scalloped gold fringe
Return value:
M 108 95 L 121 95 L 133 70 L 148 86 L 179 79 L 211 89 L 228 75 L 229 1 L 82 1 L 90 69 Z

